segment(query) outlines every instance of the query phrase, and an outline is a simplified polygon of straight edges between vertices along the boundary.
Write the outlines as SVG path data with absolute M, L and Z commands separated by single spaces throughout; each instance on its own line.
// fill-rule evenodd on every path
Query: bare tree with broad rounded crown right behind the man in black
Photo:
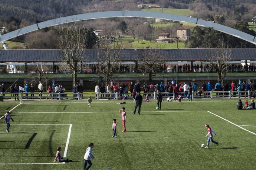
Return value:
M 152 82 L 152 75 L 161 72 L 165 64 L 164 53 L 160 48 L 146 48 L 137 50 L 138 64 L 141 71 L 148 73 L 148 82 Z M 164 68 L 164 67 L 163 67 Z

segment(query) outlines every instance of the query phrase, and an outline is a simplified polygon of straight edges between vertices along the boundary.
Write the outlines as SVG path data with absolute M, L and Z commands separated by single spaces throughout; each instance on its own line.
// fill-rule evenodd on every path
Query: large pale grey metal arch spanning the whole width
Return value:
M 240 38 L 242 40 L 248 41 L 250 43 L 256 44 L 255 36 L 236 30 L 234 28 L 223 26 L 221 24 L 213 23 L 211 21 L 206 21 L 199 18 L 167 14 L 167 13 L 146 12 L 146 11 L 104 11 L 104 12 L 86 13 L 86 14 L 78 14 L 78 15 L 73 15 L 68 17 L 55 18 L 52 20 L 33 24 L 31 26 L 20 28 L 10 33 L 4 34 L 0 37 L 0 42 L 9 40 L 19 35 L 30 33 L 32 31 L 36 31 L 46 27 L 56 26 L 59 24 L 65 24 L 65 23 L 83 21 L 83 20 L 93 20 L 97 18 L 113 18 L 113 17 L 160 18 L 164 20 L 192 23 L 202 27 L 211 27 L 214 30 L 217 30 L 217 31 L 232 35 L 234 37 Z

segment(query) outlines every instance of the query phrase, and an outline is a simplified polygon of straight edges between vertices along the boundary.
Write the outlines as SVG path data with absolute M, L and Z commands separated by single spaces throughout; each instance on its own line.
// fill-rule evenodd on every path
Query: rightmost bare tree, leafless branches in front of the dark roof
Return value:
M 232 48 L 223 41 L 219 41 L 217 48 L 209 48 L 207 51 L 204 51 L 205 56 L 210 62 L 210 67 L 216 70 L 218 82 L 221 82 L 227 74 Z

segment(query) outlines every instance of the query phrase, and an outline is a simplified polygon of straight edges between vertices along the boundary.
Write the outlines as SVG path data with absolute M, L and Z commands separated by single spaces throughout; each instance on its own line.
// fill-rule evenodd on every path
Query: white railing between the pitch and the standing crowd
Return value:
M 179 92 L 182 95 L 182 98 L 188 98 L 188 95 L 185 96 L 184 92 Z M 163 98 L 172 98 L 174 99 L 175 94 L 174 93 L 168 93 L 168 92 L 161 92 Z M 14 99 L 18 98 L 20 100 L 24 99 L 38 99 L 38 100 L 83 100 L 88 99 L 89 96 L 91 96 L 92 99 L 101 100 L 101 99 L 123 99 L 124 95 L 126 95 L 127 99 L 133 99 L 131 93 L 26 93 L 26 92 L 20 92 L 20 93 L 0 93 L 1 96 L 4 97 L 4 99 Z M 150 99 L 157 99 L 157 93 L 151 92 L 151 93 L 141 93 L 141 95 L 145 98 L 148 96 Z M 178 94 L 176 94 L 178 95 Z M 256 98 L 256 90 L 255 91 L 198 91 L 198 92 L 192 92 L 192 99 L 202 99 L 202 98 Z

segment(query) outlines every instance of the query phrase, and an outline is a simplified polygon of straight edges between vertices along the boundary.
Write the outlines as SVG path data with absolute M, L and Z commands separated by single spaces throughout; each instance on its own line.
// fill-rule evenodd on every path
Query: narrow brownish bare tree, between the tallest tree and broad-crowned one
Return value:
M 111 42 L 109 30 L 106 30 L 105 38 L 101 41 L 100 45 L 102 49 L 98 50 L 97 53 L 98 64 L 101 66 L 99 76 L 105 79 L 106 84 L 111 81 L 113 74 L 118 73 L 122 47 L 120 41 Z

